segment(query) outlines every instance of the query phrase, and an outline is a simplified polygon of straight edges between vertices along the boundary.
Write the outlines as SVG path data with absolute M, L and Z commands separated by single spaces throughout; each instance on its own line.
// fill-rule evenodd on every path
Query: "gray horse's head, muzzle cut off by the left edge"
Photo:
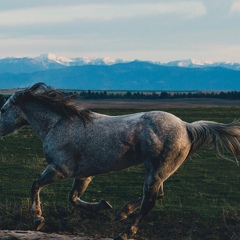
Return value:
M 27 124 L 19 103 L 21 92 L 13 94 L 0 110 L 0 137 L 3 137 Z

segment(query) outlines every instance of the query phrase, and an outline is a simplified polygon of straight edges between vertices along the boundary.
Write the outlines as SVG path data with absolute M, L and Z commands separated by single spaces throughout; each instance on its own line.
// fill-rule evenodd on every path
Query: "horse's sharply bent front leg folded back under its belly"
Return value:
M 75 178 L 72 186 L 72 190 L 69 194 L 69 201 L 75 205 L 79 206 L 88 211 L 98 211 L 104 209 L 111 209 L 112 206 L 105 200 L 100 200 L 99 202 L 85 202 L 81 200 L 82 194 L 87 189 L 89 183 L 92 181 L 92 177 L 87 178 Z

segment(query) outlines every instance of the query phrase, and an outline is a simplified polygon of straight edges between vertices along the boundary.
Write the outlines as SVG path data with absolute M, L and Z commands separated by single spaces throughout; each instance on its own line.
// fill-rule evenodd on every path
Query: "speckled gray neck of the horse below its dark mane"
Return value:
M 44 141 L 49 131 L 61 119 L 61 116 L 57 113 L 39 104 L 28 104 L 25 109 L 29 125 L 42 141 Z

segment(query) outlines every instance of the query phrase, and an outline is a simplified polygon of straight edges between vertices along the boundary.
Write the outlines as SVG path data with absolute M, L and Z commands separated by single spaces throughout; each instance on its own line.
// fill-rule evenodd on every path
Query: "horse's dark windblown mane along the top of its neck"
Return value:
M 21 95 L 23 99 L 35 100 L 67 118 L 78 116 L 84 124 L 93 118 L 91 111 L 80 109 L 71 97 L 64 96 L 60 91 L 45 83 L 36 83 L 32 87 L 26 88 Z

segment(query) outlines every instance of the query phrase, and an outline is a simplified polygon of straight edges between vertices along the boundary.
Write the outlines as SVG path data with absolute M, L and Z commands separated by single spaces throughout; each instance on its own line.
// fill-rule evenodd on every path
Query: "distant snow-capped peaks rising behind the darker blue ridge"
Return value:
M 183 67 L 183 68 L 222 67 L 240 71 L 240 64 L 233 62 L 210 62 L 210 61 L 198 61 L 195 59 L 177 60 L 168 63 L 150 61 L 145 62 L 168 67 Z M 53 53 L 47 53 L 34 58 L 23 57 L 23 58 L 0 59 L 0 73 L 14 73 L 14 74 L 32 73 L 37 71 L 59 69 L 70 66 L 113 65 L 116 63 L 127 63 L 127 61 L 124 61 L 122 59 L 113 59 L 110 57 L 68 58 L 64 56 L 57 56 Z

